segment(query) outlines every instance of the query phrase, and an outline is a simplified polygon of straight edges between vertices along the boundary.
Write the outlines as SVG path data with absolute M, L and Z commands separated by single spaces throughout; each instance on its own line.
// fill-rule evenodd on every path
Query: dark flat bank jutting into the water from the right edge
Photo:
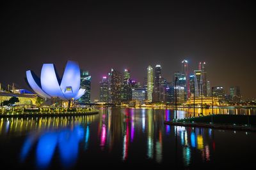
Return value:
M 255 115 L 209 115 L 204 117 L 174 119 L 166 125 L 227 129 L 234 131 L 256 131 Z

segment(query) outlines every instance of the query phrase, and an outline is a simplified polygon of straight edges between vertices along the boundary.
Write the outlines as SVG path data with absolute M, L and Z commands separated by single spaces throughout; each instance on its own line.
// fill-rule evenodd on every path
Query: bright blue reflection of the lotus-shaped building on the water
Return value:
M 84 129 L 83 127 L 76 126 L 74 129 L 63 129 L 60 132 L 45 132 L 40 136 L 29 136 L 20 152 L 20 160 L 23 162 L 29 150 L 31 150 L 33 143 L 38 138 L 36 145 L 36 166 L 40 169 L 45 169 L 51 163 L 56 147 L 60 153 L 61 165 L 65 168 L 72 167 L 77 160 L 79 152 L 79 142 L 83 139 Z M 86 130 L 86 143 L 89 138 L 89 127 Z

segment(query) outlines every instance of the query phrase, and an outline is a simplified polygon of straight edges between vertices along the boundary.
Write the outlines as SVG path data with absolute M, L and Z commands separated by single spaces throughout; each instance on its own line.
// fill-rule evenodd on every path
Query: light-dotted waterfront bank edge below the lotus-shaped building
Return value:
M 59 112 L 59 113 L 8 113 L 8 114 L 0 114 L 0 118 L 6 117 L 67 117 L 67 116 L 81 116 L 81 115 L 95 115 L 98 114 L 98 110 L 93 111 L 70 111 L 70 112 Z

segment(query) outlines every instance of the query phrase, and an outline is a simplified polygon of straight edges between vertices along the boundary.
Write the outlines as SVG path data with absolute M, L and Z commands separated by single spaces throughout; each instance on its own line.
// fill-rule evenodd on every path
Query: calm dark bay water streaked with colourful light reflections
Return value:
M 189 112 L 179 110 L 178 118 Z M 223 112 L 255 115 L 255 110 Z M 90 116 L 1 118 L 0 164 L 9 169 L 254 169 L 255 132 L 164 125 L 174 113 L 100 108 Z

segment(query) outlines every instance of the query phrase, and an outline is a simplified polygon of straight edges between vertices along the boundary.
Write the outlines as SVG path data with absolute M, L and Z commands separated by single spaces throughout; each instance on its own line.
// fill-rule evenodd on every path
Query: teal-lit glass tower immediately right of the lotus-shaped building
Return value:
M 84 95 L 78 99 L 79 103 L 91 103 L 91 78 L 88 71 L 84 71 L 81 69 L 81 88 L 85 89 Z

